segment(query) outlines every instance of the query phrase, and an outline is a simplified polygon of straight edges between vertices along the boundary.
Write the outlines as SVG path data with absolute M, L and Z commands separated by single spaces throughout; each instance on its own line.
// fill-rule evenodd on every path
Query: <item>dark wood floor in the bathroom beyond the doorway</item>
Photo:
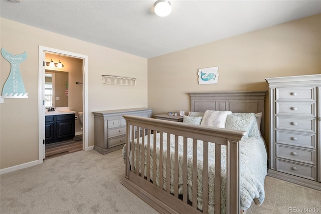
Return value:
M 75 137 L 73 140 L 46 144 L 46 158 L 54 158 L 82 150 L 82 137 Z

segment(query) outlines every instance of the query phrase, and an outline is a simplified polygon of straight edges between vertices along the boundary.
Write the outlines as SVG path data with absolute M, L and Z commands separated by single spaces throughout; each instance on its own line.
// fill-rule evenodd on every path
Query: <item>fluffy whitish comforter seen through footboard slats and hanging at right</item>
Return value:
M 159 133 L 156 137 L 156 185 L 159 187 Z M 166 190 L 166 167 L 167 167 L 167 134 L 164 133 L 163 144 L 163 189 Z M 141 145 L 141 138 L 139 144 Z M 192 201 L 192 163 L 193 163 L 193 144 L 192 139 L 188 139 L 188 197 Z M 136 139 L 134 144 L 134 168 L 136 168 Z M 147 136 L 145 136 L 145 157 L 144 157 L 144 176 L 146 177 L 146 148 Z M 141 146 L 139 147 L 139 166 L 141 166 Z M 174 135 L 171 135 L 171 193 L 174 193 Z M 129 160 L 131 163 L 131 152 Z M 125 146 L 123 148 L 123 157 L 125 157 Z M 221 149 L 221 212 L 226 213 L 226 147 Z M 179 194 L 183 193 L 183 137 L 179 137 Z M 153 168 L 153 136 L 150 136 L 150 179 Z M 209 143 L 209 213 L 214 213 L 214 177 L 215 177 L 215 145 Z M 203 142 L 198 141 L 198 197 L 197 207 L 203 209 Z M 141 168 L 139 167 L 141 173 Z M 264 200 L 264 178 L 267 173 L 267 154 L 263 138 L 243 138 L 240 141 L 240 192 L 241 192 L 241 209 L 250 207 L 254 200 L 256 204 L 261 204 Z M 173 185 L 172 185 L 173 184 Z M 192 201 L 193 202 L 193 201 Z

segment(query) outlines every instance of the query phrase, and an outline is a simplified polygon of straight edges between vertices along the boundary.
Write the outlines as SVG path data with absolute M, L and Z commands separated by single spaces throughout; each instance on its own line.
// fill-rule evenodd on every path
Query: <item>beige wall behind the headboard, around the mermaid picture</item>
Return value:
M 199 85 L 198 69 L 215 66 L 218 84 Z M 268 90 L 267 77 L 318 73 L 320 14 L 148 59 L 148 108 L 187 113 L 188 92 Z

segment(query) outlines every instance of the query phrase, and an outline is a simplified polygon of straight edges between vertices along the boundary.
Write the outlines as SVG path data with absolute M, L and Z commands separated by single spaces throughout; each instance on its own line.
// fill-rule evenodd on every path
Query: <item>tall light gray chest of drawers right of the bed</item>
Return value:
M 266 78 L 268 175 L 321 190 L 321 74 Z

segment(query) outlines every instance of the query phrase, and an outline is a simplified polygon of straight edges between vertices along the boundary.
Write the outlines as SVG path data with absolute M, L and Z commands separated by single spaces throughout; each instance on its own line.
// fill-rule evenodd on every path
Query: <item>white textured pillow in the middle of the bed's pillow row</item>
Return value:
M 225 123 L 228 115 L 231 115 L 231 111 L 211 111 L 206 110 L 201 125 L 225 128 Z

